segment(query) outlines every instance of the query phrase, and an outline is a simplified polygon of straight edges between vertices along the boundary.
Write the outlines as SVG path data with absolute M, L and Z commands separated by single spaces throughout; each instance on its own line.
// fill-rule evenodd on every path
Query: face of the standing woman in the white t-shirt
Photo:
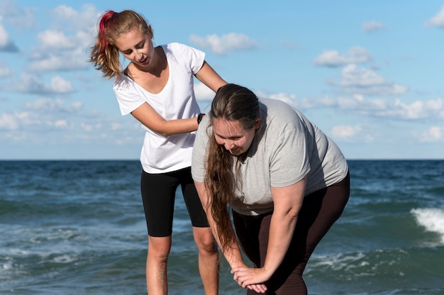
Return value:
M 154 47 L 151 36 L 137 28 L 120 35 L 115 45 L 123 56 L 135 65 L 149 67 L 154 62 Z

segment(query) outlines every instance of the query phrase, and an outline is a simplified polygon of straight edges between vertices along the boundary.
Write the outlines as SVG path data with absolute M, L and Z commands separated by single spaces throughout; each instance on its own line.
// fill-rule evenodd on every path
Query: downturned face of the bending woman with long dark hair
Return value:
M 250 148 L 255 138 L 256 129 L 260 127 L 260 119 L 256 120 L 251 129 L 244 129 L 240 121 L 228 121 L 224 118 L 213 119 L 213 133 L 216 142 L 223 145 L 231 155 L 238 156 Z

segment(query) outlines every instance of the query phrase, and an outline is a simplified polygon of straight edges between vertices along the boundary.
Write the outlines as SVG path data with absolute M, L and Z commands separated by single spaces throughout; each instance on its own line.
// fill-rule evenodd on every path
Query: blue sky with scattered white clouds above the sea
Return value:
M 0 0 L 0 160 L 138 159 L 140 124 L 87 62 L 108 9 L 299 108 L 349 159 L 444 158 L 443 0 L 38 2 Z

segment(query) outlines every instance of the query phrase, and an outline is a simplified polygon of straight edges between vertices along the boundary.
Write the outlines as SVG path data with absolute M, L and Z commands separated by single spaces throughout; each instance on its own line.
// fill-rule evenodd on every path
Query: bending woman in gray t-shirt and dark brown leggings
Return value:
M 282 101 L 228 84 L 199 126 L 192 175 L 235 281 L 248 294 L 306 294 L 306 262 L 350 194 L 333 140 Z

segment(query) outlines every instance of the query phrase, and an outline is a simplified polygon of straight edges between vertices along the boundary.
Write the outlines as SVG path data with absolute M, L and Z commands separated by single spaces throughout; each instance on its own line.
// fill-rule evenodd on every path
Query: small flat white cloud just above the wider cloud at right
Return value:
M 350 48 L 345 55 L 340 55 L 336 50 L 324 50 L 324 52 L 316 57 L 315 65 L 327 67 L 339 67 L 350 63 L 370 62 L 372 54 L 365 48 L 355 46 Z

